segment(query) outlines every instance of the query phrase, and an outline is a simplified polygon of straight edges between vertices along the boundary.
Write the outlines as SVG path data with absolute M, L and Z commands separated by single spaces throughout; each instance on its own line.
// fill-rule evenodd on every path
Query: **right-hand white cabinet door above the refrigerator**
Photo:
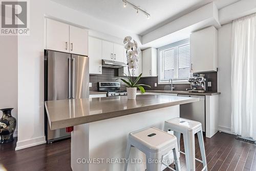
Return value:
M 69 33 L 71 53 L 88 56 L 88 31 L 70 26 Z

